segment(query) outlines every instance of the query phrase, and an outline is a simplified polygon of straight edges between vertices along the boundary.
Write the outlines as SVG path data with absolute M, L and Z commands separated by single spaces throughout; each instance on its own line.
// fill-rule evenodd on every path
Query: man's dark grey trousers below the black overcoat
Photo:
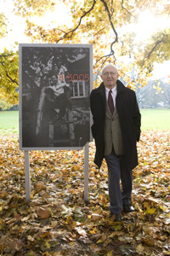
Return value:
M 131 204 L 133 171 L 127 170 L 123 156 L 116 155 L 114 149 L 105 156 L 105 161 L 108 166 L 109 209 L 113 214 L 120 214 L 123 205 Z

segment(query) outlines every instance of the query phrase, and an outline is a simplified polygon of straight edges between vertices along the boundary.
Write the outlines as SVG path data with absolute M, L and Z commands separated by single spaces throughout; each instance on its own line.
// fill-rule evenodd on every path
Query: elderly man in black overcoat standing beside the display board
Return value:
M 94 125 L 92 134 L 96 152 L 94 163 L 100 168 L 105 158 L 108 166 L 111 217 L 121 220 L 124 212 L 134 212 L 131 204 L 133 174 L 138 165 L 136 143 L 140 137 L 140 113 L 133 90 L 118 80 L 115 66 L 106 65 L 103 82 L 90 95 Z M 120 188 L 120 179 L 122 189 Z

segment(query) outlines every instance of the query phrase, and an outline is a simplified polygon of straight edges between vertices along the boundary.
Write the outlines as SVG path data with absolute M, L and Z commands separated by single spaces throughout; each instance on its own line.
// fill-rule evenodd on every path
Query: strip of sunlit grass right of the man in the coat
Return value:
M 170 130 L 170 109 L 140 109 L 142 131 Z

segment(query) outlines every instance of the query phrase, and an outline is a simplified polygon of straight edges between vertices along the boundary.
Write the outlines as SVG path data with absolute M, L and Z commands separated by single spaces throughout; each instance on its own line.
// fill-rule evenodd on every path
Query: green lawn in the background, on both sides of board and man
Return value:
M 142 131 L 170 130 L 170 109 L 140 109 Z M 0 136 L 19 133 L 19 111 L 0 112 Z

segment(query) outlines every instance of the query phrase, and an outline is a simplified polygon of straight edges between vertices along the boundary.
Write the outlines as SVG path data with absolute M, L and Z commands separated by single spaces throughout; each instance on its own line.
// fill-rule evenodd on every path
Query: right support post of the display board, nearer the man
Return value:
M 88 150 L 89 145 L 84 147 L 84 201 L 88 203 Z

